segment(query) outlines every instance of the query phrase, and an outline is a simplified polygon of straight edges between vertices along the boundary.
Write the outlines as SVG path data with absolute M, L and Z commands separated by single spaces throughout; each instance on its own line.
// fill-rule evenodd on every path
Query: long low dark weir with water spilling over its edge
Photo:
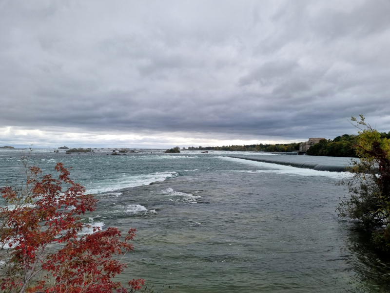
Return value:
M 246 157 L 246 156 L 229 156 L 229 157 L 235 158 L 235 159 L 244 159 L 244 160 L 257 161 L 257 162 L 263 162 L 263 163 L 291 166 L 291 167 L 297 167 L 297 168 L 313 169 L 313 170 L 317 170 L 317 171 L 329 171 L 329 172 L 345 172 L 345 171 L 347 171 L 347 167 L 344 165 L 325 165 L 325 164 L 317 164 L 317 163 L 279 161 L 279 160 L 253 158 L 253 157 Z

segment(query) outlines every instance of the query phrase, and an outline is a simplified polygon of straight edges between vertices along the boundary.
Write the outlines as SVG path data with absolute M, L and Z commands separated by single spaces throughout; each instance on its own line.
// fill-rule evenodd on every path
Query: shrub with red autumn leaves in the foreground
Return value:
M 121 240 L 117 228 L 80 237 L 80 215 L 96 209 L 97 200 L 69 178 L 58 163 L 59 179 L 41 175 L 39 167 L 23 162 L 26 181 L 19 188 L 0 189 L 0 289 L 6 293 L 126 293 L 145 280 L 128 283 L 113 278 L 127 267 L 119 256 L 133 250 L 130 229 Z M 63 190 L 63 188 L 66 190 Z M 89 226 L 88 226 L 89 227 Z

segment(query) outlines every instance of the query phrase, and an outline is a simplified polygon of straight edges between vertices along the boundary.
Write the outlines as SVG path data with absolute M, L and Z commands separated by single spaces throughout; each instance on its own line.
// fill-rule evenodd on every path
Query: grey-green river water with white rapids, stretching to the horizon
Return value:
M 248 152 L 50 151 L 36 149 L 32 159 L 52 174 L 58 161 L 73 167 L 99 199 L 86 223 L 137 229 L 122 280 L 175 284 L 176 292 L 390 292 L 389 261 L 335 212 L 346 194 L 335 183 L 346 173 L 227 157 L 258 155 Z M 19 150 L 0 150 L 1 185 L 18 177 L 19 159 Z

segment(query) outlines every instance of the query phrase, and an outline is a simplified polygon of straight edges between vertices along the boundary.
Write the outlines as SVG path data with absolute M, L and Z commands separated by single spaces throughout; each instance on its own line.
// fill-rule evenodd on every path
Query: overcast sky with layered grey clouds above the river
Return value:
M 0 146 L 390 130 L 389 0 L 0 0 Z

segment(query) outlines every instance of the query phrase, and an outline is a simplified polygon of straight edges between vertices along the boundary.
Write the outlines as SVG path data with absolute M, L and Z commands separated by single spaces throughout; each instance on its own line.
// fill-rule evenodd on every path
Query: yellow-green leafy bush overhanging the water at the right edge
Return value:
M 339 216 L 356 220 L 372 232 L 374 245 L 390 252 L 390 139 L 373 129 L 360 115 L 351 119 L 360 129 L 353 146 L 359 161 L 353 161 L 352 177 L 340 182 L 349 189 L 337 210 Z

